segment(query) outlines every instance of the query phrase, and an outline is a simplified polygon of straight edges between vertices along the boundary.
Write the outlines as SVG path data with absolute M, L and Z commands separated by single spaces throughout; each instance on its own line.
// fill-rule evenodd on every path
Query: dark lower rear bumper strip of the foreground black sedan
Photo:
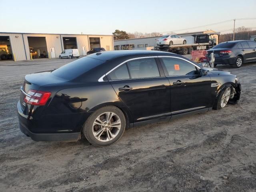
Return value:
M 34 141 L 78 141 L 81 138 L 80 133 L 32 133 L 28 128 L 19 122 L 22 133 L 29 136 Z

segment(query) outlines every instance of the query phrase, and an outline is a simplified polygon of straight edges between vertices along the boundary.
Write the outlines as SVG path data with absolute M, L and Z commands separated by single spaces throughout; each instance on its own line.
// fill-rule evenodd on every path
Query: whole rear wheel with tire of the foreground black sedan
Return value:
M 112 113 L 112 118 L 110 118 L 110 125 L 108 124 L 108 120 L 106 120 L 107 114 L 109 112 Z M 100 119 L 101 122 L 96 119 Z M 119 127 L 111 127 L 111 122 L 117 122 L 117 124 L 114 124 L 113 126 Z M 118 122 L 120 123 L 118 124 Z M 115 106 L 106 106 L 96 110 L 89 116 L 83 126 L 82 132 L 85 138 L 92 145 L 96 147 L 104 147 L 117 142 L 124 134 L 125 127 L 126 119 L 123 112 Z M 97 139 L 96 136 L 100 137 Z

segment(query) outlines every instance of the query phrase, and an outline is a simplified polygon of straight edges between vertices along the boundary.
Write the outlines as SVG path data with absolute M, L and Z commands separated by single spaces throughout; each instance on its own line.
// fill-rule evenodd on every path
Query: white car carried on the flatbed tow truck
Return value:
M 157 45 L 177 45 L 177 44 L 186 44 L 187 40 L 181 38 L 178 35 L 164 35 L 159 38 L 156 42 Z

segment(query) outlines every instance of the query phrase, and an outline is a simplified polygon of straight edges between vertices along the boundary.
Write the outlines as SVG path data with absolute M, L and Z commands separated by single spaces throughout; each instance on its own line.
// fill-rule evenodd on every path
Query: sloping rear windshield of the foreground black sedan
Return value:
M 63 79 L 72 80 L 103 62 L 102 60 L 83 57 L 52 71 L 52 74 Z

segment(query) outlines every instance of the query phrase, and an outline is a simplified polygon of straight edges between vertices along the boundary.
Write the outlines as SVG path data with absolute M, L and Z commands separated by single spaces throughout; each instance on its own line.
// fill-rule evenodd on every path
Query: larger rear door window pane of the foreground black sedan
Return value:
M 154 58 L 136 59 L 127 62 L 132 79 L 159 77 L 159 70 Z

